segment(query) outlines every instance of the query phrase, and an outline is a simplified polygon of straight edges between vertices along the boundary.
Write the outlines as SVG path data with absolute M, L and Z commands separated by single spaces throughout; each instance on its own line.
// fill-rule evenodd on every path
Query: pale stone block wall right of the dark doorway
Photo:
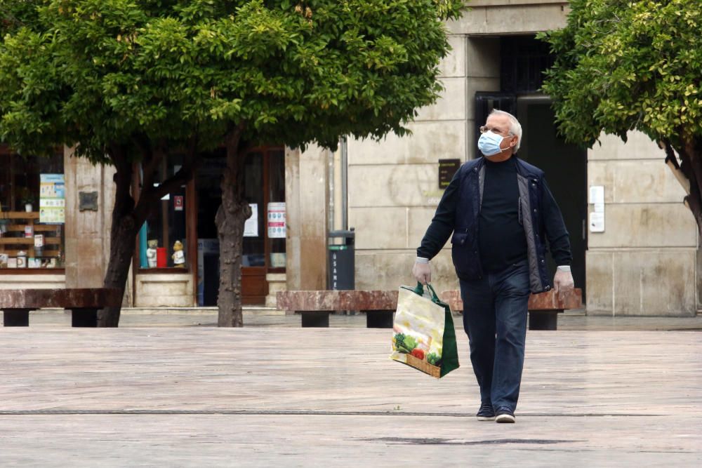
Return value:
M 684 190 L 642 133 L 601 141 L 588 152 L 605 214 L 604 232 L 588 237 L 588 314 L 694 315 L 697 228 Z

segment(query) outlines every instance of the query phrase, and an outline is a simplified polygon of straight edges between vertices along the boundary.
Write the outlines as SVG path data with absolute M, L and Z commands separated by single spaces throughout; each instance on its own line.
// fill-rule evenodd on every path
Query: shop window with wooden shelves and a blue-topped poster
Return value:
M 64 266 L 63 153 L 39 157 L 0 147 L 0 270 Z

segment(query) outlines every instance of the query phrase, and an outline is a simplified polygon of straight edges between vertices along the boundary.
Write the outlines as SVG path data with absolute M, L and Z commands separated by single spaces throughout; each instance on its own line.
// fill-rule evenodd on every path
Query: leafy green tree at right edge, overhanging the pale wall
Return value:
M 543 91 L 567 140 L 641 131 L 665 151 L 702 234 L 702 2 L 572 0 Z

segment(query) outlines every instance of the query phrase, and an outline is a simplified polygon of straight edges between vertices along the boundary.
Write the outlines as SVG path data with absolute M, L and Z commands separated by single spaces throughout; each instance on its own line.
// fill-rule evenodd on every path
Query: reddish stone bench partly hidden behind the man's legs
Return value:
M 463 312 L 461 291 L 442 291 L 439 295 L 449 306 L 451 312 Z M 565 309 L 583 307 L 583 290 L 575 288 L 569 293 L 558 295 L 554 290 L 529 296 L 529 330 L 556 330 L 558 314 Z

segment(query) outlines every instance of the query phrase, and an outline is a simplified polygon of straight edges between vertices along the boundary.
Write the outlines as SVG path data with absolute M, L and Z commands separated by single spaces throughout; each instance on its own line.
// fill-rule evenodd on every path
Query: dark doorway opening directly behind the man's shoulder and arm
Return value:
M 585 300 L 586 218 L 588 215 L 587 151 L 565 142 L 557 135 L 550 99 L 543 96 L 517 98 L 517 119 L 522 123 L 519 156 L 546 173 L 570 234 L 573 262 L 571 270 L 576 288 L 583 289 Z M 549 257 L 549 268 L 556 265 Z

